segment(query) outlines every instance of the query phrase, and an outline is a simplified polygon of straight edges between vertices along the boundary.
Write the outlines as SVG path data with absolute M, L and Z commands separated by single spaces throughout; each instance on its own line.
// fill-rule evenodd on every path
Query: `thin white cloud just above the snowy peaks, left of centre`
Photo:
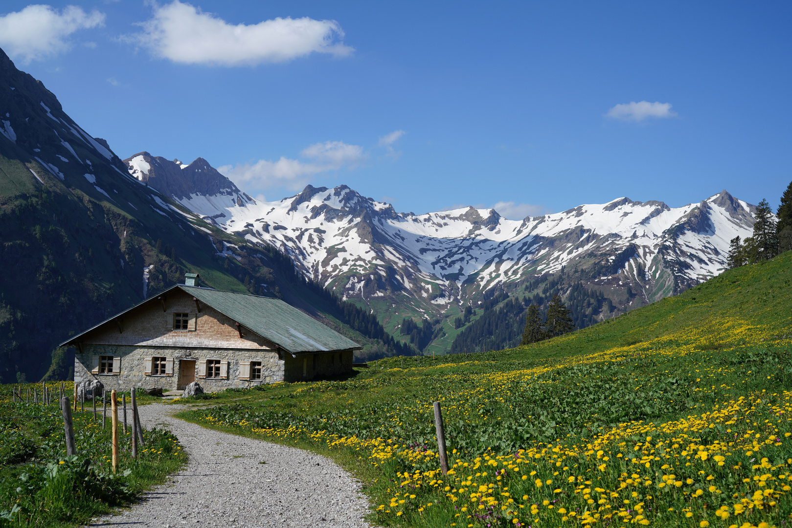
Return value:
M 303 158 L 314 161 L 305 162 L 281 156 L 278 161 L 259 160 L 253 164 L 223 165 L 218 170 L 241 186 L 248 184 L 257 190 L 284 186 L 297 191 L 305 187 L 310 177 L 316 174 L 342 167 L 352 168 L 365 158 L 363 147 L 341 141 L 315 143 L 301 154 Z

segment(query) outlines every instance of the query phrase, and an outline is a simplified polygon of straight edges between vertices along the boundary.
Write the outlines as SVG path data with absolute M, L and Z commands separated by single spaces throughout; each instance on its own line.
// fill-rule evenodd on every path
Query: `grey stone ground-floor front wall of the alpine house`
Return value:
M 91 374 L 93 356 L 112 355 L 120 357 L 120 373 Z M 144 359 L 152 356 L 164 356 L 173 359 L 172 375 L 147 375 Z M 291 355 L 289 355 L 291 357 Z M 249 350 L 229 348 L 165 348 L 144 347 L 133 345 L 84 344 L 82 352 L 78 349 L 74 356 L 74 382 L 86 379 L 98 379 L 106 389 L 129 389 L 131 386 L 144 389 L 162 388 L 163 390 L 179 389 L 181 379 L 181 359 L 194 360 L 195 381 L 207 392 L 228 389 L 230 387 L 250 387 L 261 383 L 284 381 L 285 363 L 276 351 Z M 223 359 L 229 362 L 228 379 L 199 378 L 198 361 L 200 359 Z M 239 379 L 240 361 L 261 361 L 261 380 L 248 381 Z M 302 374 L 302 371 L 300 372 Z

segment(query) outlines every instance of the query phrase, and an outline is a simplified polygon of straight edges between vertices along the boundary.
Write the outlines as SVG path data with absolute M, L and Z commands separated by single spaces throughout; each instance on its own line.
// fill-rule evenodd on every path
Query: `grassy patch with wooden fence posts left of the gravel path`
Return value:
M 93 418 L 91 402 L 73 413 L 76 455 L 67 456 L 63 415 L 57 394 L 50 405 L 12 401 L 11 388 L 0 387 L 0 526 L 75 526 L 135 499 L 144 489 L 166 480 L 186 462 L 177 439 L 166 431 L 143 431 L 146 446 L 131 458 L 131 408 L 127 434 L 121 429 L 119 397 L 119 466 L 112 473 L 110 402 L 102 430 L 101 405 Z M 67 395 L 74 390 L 66 382 Z M 41 384 L 14 385 L 26 394 Z M 129 405 L 129 393 L 126 394 Z M 146 398 L 142 398 L 145 400 Z M 97 404 L 100 402 L 97 401 Z

